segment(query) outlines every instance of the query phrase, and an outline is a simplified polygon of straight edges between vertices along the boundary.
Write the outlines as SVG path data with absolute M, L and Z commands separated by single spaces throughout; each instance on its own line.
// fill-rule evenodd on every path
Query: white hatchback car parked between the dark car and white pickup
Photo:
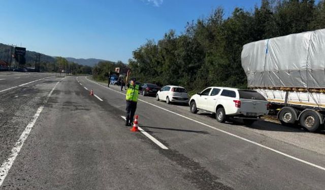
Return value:
M 170 104 L 171 102 L 187 104 L 187 90 L 184 87 L 165 86 L 157 92 L 156 100 L 164 100 L 167 104 Z

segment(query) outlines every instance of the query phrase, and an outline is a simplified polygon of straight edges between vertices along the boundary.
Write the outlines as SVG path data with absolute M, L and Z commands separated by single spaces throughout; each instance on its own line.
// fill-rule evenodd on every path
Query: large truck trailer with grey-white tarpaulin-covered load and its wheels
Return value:
M 241 62 L 248 88 L 269 101 L 282 125 L 324 128 L 325 29 L 246 44 Z

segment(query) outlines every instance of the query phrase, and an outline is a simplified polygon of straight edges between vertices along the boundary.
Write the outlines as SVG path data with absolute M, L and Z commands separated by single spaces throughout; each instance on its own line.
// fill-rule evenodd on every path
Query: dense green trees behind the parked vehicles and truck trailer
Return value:
M 142 82 L 181 85 L 189 90 L 207 86 L 246 87 L 241 67 L 244 44 L 291 33 L 325 28 L 325 2 L 263 0 L 253 11 L 235 8 L 224 17 L 222 8 L 185 31 L 174 30 L 158 42 L 147 41 L 129 60 Z

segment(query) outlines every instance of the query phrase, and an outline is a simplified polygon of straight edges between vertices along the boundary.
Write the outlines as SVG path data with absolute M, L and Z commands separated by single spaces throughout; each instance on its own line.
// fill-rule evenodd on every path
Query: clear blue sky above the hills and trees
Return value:
M 260 0 L 3 0 L 0 43 L 51 56 L 127 62 L 132 51 L 184 30 L 221 6 L 253 10 Z

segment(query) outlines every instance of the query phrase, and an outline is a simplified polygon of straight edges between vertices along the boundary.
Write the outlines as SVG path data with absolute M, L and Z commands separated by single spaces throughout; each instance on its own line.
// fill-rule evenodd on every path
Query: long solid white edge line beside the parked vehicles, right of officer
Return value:
M 86 77 L 86 80 L 90 81 L 89 79 L 87 79 L 87 77 Z M 97 85 L 100 85 L 100 86 L 102 86 L 102 87 L 105 87 L 105 86 L 103 86 L 103 85 L 101 85 L 101 84 L 98 84 L 98 83 L 96 83 L 96 82 L 93 82 L 93 81 L 90 81 L 90 82 L 92 82 L 92 83 L 94 83 L 94 84 L 97 84 Z M 105 87 L 105 88 L 110 89 L 110 88 L 108 88 L 108 87 Z M 112 91 L 114 91 L 114 92 L 117 92 L 117 93 L 120 93 L 120 94 L 123 94 L 123 93 L 118 92 L 118 91 L 113 90 L 113 89 L 110 89 L 110 90 L 112 90 Z M 123 95 L 125 95 L 125 94 L 123 94 Z M 260 143 L 254 142 L 254 141 L 252 141 L 252 140 L 249 140 L 249 139 L 243 138 L 243 137 L 238 136 L 238 135 L 235 135 L 235 134 L 233 134 L 233 133 L 226 132 L 226 131 L 224 131 L 224 130 L 222 130 L 222 129 L 218 129 L 218 128 L 216 128 L 216 127 L 212 127 L 212 126 L 210 126 L 210 125 L 208 125 L 208 124 L 205 124 L 205 123 L 199 122 L 199 121 L 197 121 L 197 120 L 193 120 L 193 119 L 188 118 L 188 117 L 186 117 L 186 116 L 180 115 L 179 113 L 176 113 L 176 112 L 174 112 L 174 111 L 171 111 L 171 110 L 165 109 L 165 108 L 163 108 L 163 107 L 159 107 L 159 106 L 157 106 L 157 105 L 154 105 L 154 104 L 152 104 L 152 103 L 146 102 L 146 101 L 144 101 L 144 100 L 141 100 L 141 99 L 139 99 L 139 100 L 142 101 L 142 102 L 145 102 L 145 103 L 147 103 L 147 104 L 149 104 L 149 105 L 152 105 L 152 106 L 154 106 L 154 107 L 157 107 L 157 108 L 159 108 L 159 109 L 163 109 L 163 110 L 165 110 L 165 111 L 168 111 L 168 112 L 170 112 L 170 113 L 173 113 L 173 114 L 176 115 L 176 116 L 179 116 L 179 117 L 185 118 L 185 119 L 190 120 L 190 121 L 192 121 L 192 122 L 196 122 L 196 123 L 198 123 L 198 124 L 204 125 L 204 126 L 209 127 L 209 128 L 211 128 L 211 129 L 217 130 L 217 131 L 219 131 L 219 132 L 221 132 L 221 133 L 225 133 L 225 134 L 228 134 L 228 135 L 230 135 L 230 136 L 233 136 L 233 137 L 239 138 L 239 139 L 244 140 L 244 141 L 246 141 L 246 142 L 249 142 L 249 143 L 255 144 L 255 145 L 259 146 L 259 147 L 263 147 L 263 148 L 266 148 L 266 149 L 268 149 L 268 150 L 271 150 L 271 151 L 273 151 L 274 153 L 278 153 L 278 154 L 280 154 L 280 155 L 282 155 L 282 156 L 288 157 L 288 158 L 290 158 L 290 159 L 293 159 L 293 160 L 296 160 L 296 161 L 302 162 L 302 163 L 304 163 L 304 164 L 307 164 L 307 165 L 310 165 L 310 166 L 313 166 L 313 167 L 315 167 L 315 168 L 318 168 L 318 169 L 321 169 L 321 170 L 324 170 L 324 171 L 325 171 L 325 167 L 318 166 L 318 165 L 313 164 L 313 163 L 311 163 L 311 162 L 308 162 L 308 161 L 305 161 L 305 160 L 299 159 L 299 158 L 297 158 L 297 157 L 294 157 L 294 156 L 291 156 L 291 155 L 285 154 L 285 153 L 283 153 L 282 151 L 276 150 L 276 149 L 274 149 L 274 148 L 270 148 L 270 147 L 268 147 L 268 146 L 265 146 L 265 145 L 263 145 L 263 144 L 260 144 Z

